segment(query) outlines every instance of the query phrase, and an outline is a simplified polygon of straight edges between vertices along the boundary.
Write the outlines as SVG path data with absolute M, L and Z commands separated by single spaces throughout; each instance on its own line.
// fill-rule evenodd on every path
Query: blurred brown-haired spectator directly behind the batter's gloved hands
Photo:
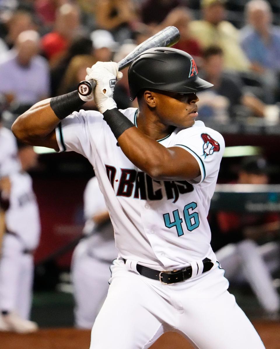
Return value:
M 74 91 L 78 87 L 78 83 L 85 80 L 86 68 L 91 67 L 97 61 L 93 55 L 76 55 L 71 60 L 63 76 L 59 95 Z M 86 102 L 81 109 L 97 110 L 94 101 Z

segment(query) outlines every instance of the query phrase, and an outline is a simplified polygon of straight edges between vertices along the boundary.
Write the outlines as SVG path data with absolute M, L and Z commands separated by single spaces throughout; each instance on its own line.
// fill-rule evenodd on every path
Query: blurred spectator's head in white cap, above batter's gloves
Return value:
M 93 55 L 96 61 L 109 62 L 117 50 L 118 44 L 115 42 L 113 35 L 103 29 L 94 30 L 90 38 L 93 45 Z

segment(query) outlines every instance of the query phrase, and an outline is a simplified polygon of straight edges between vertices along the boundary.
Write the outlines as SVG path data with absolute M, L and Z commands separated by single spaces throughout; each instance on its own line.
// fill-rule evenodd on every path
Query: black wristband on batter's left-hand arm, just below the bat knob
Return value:
M 79 97 L 78 91 L 69 92 L 66 95 L 51 98 L 50 105 L 55 115 L 60 119 L 66 118 L 69 114 L 85 104 Z

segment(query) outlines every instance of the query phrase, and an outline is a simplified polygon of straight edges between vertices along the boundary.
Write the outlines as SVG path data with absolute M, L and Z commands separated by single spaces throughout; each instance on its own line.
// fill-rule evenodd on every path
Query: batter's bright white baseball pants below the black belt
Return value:
M 111 266 L 107 298 L 91 332 L 90 349 L 146 349 L 176 331 L 200 349 L 264 349 L 249 319 L 227 291 L 219 263 L 173 285 Z

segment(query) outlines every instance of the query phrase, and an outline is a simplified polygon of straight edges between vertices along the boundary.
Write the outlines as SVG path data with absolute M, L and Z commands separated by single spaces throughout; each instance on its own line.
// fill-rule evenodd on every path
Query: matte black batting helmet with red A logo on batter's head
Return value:
M 213 84 L 197 76 L 195 60 L 187 52 L 155 47 L 139 54 L 128 70 L 130 99 L 143 89 L 178 93 L 203 91 Z

